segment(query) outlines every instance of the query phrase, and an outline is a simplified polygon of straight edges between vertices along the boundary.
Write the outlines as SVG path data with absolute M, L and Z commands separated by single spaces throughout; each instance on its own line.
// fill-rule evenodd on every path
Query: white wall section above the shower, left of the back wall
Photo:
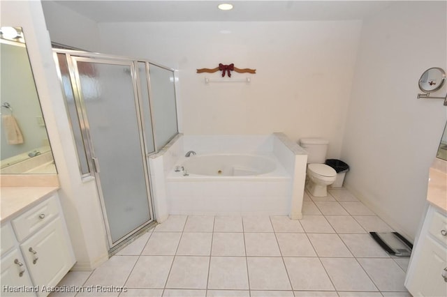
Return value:
M 101 49 L 96 22 L 53 1 L 42 1 L 42 8 L 52 42 L 90 52 Z

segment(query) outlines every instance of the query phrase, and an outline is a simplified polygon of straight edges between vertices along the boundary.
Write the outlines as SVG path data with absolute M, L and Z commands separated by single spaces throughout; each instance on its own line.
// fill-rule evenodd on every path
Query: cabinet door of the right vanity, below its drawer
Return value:
M 447 282 L 442 273 L 447 267 L 447 252 L 430 236 L 426 236 L 420 257 L 413 268 L 414 274 L 408 289 L 413 296 L 447 296 Z

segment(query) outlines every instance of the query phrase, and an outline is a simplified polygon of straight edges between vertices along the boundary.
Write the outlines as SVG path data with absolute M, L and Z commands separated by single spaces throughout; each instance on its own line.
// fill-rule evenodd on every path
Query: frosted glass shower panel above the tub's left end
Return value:
M 152 108 L 154 109 L 155 141 L 159 150 L 177 134 L 174 73 L 149 64 Z

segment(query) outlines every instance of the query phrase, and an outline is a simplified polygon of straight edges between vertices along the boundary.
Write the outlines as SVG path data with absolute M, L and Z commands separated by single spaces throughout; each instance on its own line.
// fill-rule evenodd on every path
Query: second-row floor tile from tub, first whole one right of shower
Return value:
M 177 252 L 181 232 L 154 232 L 141 254 L 144 255 L 174 255 Z

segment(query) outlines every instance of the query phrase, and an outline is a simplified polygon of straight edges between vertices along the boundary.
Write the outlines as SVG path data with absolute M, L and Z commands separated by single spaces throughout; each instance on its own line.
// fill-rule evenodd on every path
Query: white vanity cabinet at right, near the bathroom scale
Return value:
M 413 296 L 447 296 L 447 215 L 430 205 L 406 274 Z

